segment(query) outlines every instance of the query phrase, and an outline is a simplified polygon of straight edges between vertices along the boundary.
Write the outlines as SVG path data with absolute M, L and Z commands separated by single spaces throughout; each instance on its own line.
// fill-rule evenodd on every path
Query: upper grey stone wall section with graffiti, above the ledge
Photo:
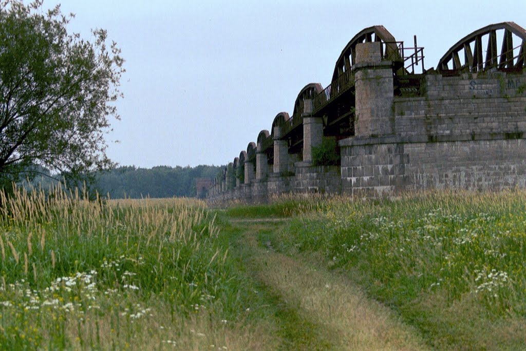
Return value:
M 426 76 L 420 98 L 396 98 L 395 135 L 526 131 L 526 75 Z

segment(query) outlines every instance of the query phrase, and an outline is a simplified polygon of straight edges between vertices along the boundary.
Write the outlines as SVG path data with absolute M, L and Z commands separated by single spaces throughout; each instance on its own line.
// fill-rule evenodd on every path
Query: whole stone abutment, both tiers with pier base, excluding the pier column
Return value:
M 423 89 L 395 98 L 392 135 L 340 141 L 344 192 L 526 185 L 526 75 L 430 74 Z

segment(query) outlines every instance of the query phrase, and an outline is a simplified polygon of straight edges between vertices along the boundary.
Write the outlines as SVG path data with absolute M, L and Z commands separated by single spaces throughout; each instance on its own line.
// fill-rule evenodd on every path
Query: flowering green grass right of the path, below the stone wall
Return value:
M 432 346 L 526 346 L 524 191 L 327 200 L 281 241 L 355 274 Z

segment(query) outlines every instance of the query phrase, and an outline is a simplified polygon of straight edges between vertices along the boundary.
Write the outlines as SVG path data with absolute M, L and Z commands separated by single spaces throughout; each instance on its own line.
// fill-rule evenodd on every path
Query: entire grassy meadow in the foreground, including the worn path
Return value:
M 526 193 L 0 194 L 1 349 L 524 349 Z

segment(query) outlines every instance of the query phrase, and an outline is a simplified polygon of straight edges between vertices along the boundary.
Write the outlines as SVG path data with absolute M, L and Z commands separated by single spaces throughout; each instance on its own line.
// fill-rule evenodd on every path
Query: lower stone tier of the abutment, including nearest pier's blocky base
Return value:
M 377 197 L 409 190 L 526 187 L 526 139 L 504 133 L 478 137 L 353 140 L 342 146 L 343 191 Z

